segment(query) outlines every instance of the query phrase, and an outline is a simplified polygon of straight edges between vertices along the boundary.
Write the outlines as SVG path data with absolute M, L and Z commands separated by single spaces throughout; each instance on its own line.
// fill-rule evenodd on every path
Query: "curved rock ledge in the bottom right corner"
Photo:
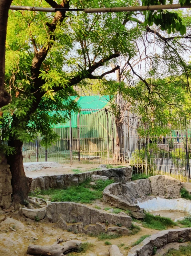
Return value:
M 149 256 L 157 249 L 171 242 L 191 240 L 191 228 L 168 229 L 145 238 L 139 245 L 134 246 L 127 256 Z

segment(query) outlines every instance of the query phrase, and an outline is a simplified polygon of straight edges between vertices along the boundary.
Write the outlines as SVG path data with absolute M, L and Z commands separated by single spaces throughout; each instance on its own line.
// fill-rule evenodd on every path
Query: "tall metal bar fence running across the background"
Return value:
M 128 112 L 116 121 L 107 109 L 83 109 L 69 125 L 54 128 L 60 136 L 49 148 L 41 136 L 23 145 L 23 161 L 80 164 L 128 164 L 134 175 L 171 175 L 190 178 L 190 120 L 150 124 Z

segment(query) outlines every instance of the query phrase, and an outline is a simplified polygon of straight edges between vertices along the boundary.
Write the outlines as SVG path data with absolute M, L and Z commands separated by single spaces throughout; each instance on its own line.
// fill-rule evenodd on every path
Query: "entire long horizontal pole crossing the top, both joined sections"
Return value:
M 150 6 L 131 6 L 131 7 L 112 7 L 112 8 L 91 8 L 91 9 L 64 9 L 64 8 L 43 8 L 32 6 L 10 6 L 10 10 L 24 10 L 24 11 L 44 11 L 44 12 L 57 12 L 57 11 L 84 11 L 85 13 L 93 12 L 122 12 L 122 11 L 153 11 L 153 10 L 167 10 L 167 9 L 181 9 L 191 8 L 191 5 L 181 6 L 176 5 L 150 5 Z

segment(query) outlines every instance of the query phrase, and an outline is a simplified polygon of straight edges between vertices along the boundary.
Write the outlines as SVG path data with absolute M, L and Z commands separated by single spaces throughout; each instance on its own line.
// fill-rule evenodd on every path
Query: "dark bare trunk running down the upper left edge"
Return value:
M 12 0 L 0 0 L 0 108 L 9 104 L 11 95 L 4 89 L 5 79 L 5 42 L 8 12 Z

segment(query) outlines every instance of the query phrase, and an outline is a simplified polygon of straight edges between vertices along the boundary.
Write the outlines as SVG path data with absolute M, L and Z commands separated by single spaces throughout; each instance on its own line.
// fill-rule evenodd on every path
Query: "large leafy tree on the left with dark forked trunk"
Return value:
M 39 5 L 37 0 L 22 3 Z M 18 0 L 13 4 L 21 5 Z M 101 3 L 104 7 L 133 4 L 136 2 L 121 0 Z M 62 0 L 60 4 L 46 0 L 40 5 L 54 8 L 100 7 L 96 0 L 86 3 Z M 52 125 L 64 123 L 71 110 L 78 111 L 76 101 L 69 97 L 76 95 L 73 85 L 82 86 L 87 79 L 102 81 L 106 75 L 119 70 L 119 56 L 130 63 L 137 55 L 136 43 L 142 38 L 143 29 L 150 29 L 136 16 L 139 14 L 69 12 L 66 15 L 66 12 L 56 12 L 53 16 L 42 12 L 10 11 L 5 81 L 12 102 L 2 108 L 1 138 L 8 140 L 8 147 L 1 146 L 14 150 L 13 155 L 8 156 L 8 162 L 15 208 L 20 203 L 30 202 L 30 180 L 25 176 L 22 164 L 23 142 L 32 140 L 37 132 L 43 135 L 46 144 L 57 140 Z M 150 92 L 151 85 L 143 80 Z M 105 85 L 109 83 L 116 91 L 113 81 L 104 81 Z M 124 83 L 118 84 L 121 88 Z M 127 92 L 124 87 L 123 92 L 125 90 Z

